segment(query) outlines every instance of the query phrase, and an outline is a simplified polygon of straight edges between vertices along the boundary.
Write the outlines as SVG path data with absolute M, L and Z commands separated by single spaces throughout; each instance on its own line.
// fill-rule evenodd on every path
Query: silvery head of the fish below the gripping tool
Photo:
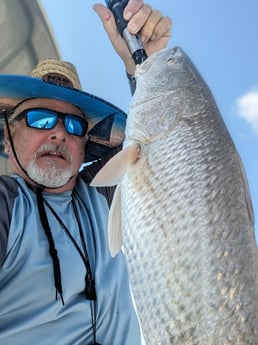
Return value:
M 150 55 L 137 66 L 135 77 L 136 91 L 129 109 L 126 137 L 144 144 L 171 133 L 180 119 L 198 112 L 202 90 L 207 89 L 179 47 Z

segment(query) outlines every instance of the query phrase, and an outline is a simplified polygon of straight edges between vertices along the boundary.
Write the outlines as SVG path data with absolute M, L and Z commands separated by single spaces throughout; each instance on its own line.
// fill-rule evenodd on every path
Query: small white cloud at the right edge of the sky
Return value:
M 237 99 L 237 112 L 258 133 L 258 87 Z

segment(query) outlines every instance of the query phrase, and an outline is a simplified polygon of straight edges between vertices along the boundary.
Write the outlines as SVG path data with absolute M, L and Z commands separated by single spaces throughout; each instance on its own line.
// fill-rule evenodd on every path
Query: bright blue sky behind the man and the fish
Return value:
M 84 90 L 127 111 L 131 96 L 124 67 L 92 10 L 96 2 L 41 0 L 61 56 L 76 65 Z M 210 86 L 244 163 L 257 220 L 258 1 L 148 3 L 172 18 L 169 46 L 181 46 Z

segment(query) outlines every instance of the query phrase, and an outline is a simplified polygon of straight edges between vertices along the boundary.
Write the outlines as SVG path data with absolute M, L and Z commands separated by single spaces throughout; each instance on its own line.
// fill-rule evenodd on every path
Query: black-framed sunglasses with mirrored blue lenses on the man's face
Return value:
M 28 127 L 41 130 L 53 129 L 59 119 L 62 119 L 66 132 L 77 137 L 83 137 L 88 129 L 88 122 L 84 118 L 49 109 L 26 109 L 15 117 L 15 120 L 23 118 Z

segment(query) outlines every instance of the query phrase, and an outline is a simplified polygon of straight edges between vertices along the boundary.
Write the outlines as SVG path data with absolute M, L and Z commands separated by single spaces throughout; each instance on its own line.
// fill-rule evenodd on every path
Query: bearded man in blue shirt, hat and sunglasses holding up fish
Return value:
M 130 77 L 112 13 L 94 8 Z M 125 17 L 147 54 L 166 46 L 168 18 L 142 0 Z M 107 246 L 112 189 L 89 187 L 119 149 L 125 114 L 80 91 L 69 63 L 46 59 L 31 75 L 0 76 L 14 173 L 0 178 L 0 344 L 140 344 L 123 254 L 111 258 Z M 94 163 L 79 172 L 85 161 Z

